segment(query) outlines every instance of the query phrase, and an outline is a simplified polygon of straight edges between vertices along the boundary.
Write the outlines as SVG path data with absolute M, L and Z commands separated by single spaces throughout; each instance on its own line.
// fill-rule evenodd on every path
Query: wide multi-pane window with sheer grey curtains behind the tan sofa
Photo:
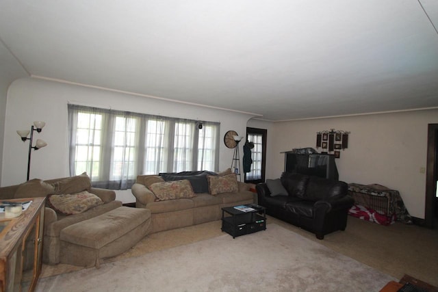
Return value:
M 217 122 L 68 104 L 70 175 L 95 187 L 128 189 L 138 174 L 218 171 Z

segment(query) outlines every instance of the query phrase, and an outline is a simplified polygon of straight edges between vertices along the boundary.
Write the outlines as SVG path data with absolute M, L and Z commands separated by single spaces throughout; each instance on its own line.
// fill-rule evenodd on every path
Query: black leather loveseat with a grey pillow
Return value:
M 258 204 L 266 207 L 268 215 L 315 233 L 318 239 L 345 230 L 348 209 L 354 203 L 346 183 L 283 172 L 281 185 L 287 196 L 272 196 L 266 183 L 256 186 Z

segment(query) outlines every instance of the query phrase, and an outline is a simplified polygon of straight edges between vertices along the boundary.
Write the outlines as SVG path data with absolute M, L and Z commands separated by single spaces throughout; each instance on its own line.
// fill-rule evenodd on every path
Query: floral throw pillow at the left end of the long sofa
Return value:
M 179 198 L 196 197 L 190 181 L 166 181 L 164 183 L 153 183 L 149 189 L 153 192 L 156 201 L 175 200 Z

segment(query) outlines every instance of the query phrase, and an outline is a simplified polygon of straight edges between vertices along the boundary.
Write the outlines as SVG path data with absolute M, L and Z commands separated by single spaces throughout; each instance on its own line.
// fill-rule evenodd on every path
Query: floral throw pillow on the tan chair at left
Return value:
M 75 215 L 103 204 L 103 201 L 88 191 L 81 191 L 77 194 L 51 195 L 47 198 L 47 203 L 58 213 Z

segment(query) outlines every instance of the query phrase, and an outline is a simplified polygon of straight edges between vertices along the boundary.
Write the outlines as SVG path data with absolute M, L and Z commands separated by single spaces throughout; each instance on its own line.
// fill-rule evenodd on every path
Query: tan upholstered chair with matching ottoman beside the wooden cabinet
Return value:
M 99 267 L 149 233 L 150 211 L 122 207 L 116 193 L 91 186 L 86 173 L 0 188 L 0 199 L 47 197 L 43 262 Z

